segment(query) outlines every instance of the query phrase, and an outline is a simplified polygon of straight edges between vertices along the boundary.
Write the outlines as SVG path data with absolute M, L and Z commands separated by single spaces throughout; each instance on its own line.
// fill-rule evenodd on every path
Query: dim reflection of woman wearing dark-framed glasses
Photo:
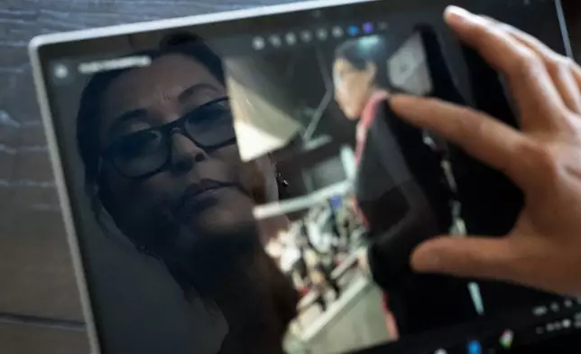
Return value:
M 151 65 L 97 74 L 83 91 L 78 145 L 93 209 L 166 265 L 188 299 L 222 312 L 220 353 L 281 353 L 298 295 L 252 215 L 278 198 L 272 162 L 241 162 L 222 63 L 207 46 L 176 37 L 144 54 Z

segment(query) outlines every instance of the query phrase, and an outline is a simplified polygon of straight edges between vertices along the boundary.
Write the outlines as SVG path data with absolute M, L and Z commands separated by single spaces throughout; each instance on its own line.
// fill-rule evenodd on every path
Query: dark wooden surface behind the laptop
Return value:
M 32 84 L 30 39 L 285 2 L 0 0 L 0 353 L 88 353 Z M 573 49 L 581 54 L 581 3 L 563 3 Z

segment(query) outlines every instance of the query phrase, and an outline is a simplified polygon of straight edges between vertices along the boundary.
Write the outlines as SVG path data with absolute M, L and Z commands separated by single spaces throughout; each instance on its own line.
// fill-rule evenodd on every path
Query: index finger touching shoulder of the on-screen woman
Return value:
M 529 140 L 511 126 L 474 109 L 434 98 L 394 95 L 390 103 L 402 119 L 437 133 L 526 187 L 534 171 L 520 155 Z

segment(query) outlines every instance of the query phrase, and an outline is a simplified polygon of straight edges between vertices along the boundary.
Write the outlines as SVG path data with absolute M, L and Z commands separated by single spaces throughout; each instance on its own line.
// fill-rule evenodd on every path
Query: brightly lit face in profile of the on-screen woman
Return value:
M 344 58 L 337 58 L 333 64 L 335 100 L 349 119 L 359 119 L 365 103 L 373 89 L 375 76 L 374 64 L 361 70 L 355 68 Z

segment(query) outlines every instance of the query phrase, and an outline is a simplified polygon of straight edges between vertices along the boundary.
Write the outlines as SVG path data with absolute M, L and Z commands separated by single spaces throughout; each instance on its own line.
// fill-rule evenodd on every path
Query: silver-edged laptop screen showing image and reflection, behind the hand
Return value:
M 558 0 L 455 3 L 571 55 Z M 446 5 L 324 0 L 34 38 L 92 352 L 576 348 L 578 299 L 408 265 L 441 233 L 506 233 L 511 182 L 384 99 L 381 138 L 361 144 L 364 107 L 391 92 L 518 127 Z M 398 231 L 409 205 L 421 218 Z

